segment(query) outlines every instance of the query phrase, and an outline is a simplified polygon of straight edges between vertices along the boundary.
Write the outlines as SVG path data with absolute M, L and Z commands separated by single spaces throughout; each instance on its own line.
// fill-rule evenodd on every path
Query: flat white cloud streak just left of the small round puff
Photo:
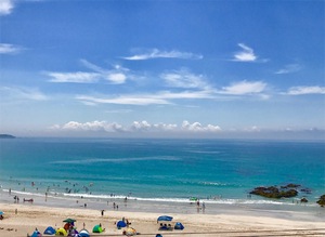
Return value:
M 49 80 L 50 82 L 57 82 L 57 83 L 94 83 L 99 81 L 101 77 L 98 73 L 83 73 L 83 71 L 76 71 L 76 73 L 44 73 L 52 79 Z

